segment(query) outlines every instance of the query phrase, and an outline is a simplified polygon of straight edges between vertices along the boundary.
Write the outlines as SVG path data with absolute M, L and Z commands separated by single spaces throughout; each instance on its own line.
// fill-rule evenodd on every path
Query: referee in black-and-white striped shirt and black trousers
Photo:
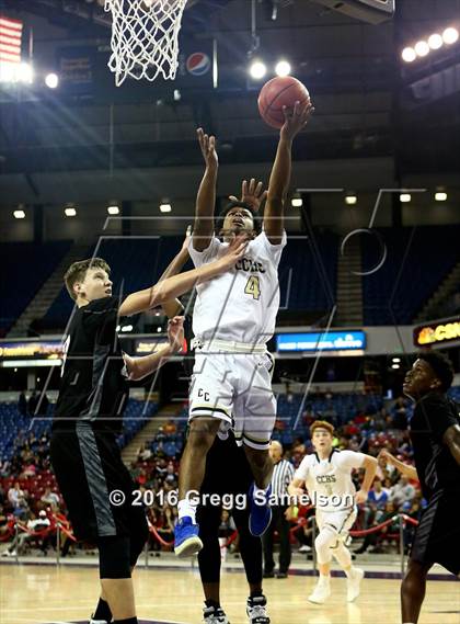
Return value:
M 269 454 L 274 463 L 272 477 L 272 496 L 278 498 L 281 504 L 272 506 L 272 523 L 265 531 L 262 541 L 264 545 L 264 578 L 275 577 L 275 559 L 273 557 L 273 537 L 275 531 L 279 536 L 279 570 L 276 578 L 285 579 L 288 576 L 290 565 L 290 541 L 289 541 L 289 521 L 286 519 L 288 509 L 287 499 L 288 485 L 294 478 L 294 466 L 287 460 L 283 460 L 283 446 L 276 440 L 273 440 L 269 446 Z M 286 500 L 283 501 L 283 498 Z

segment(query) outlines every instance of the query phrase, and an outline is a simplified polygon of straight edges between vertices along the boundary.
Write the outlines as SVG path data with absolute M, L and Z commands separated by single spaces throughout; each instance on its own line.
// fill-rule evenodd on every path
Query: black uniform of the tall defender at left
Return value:
M 147 533 L 143 509 L 133 507 L 135 484 L 116 435 L 128 382 L 116 334 L 119 300 L 104 297 L 76 310 L 65 341 L 65 363 L 53 422 L 50 457 L 80 540 Z M 110 492 L 126 501 L 114 506 Z

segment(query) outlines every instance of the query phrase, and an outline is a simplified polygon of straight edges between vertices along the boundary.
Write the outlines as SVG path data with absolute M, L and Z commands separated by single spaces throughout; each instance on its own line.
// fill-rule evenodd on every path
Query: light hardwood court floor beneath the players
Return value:
M 453 577 L 452 577 L 453 578 Z M 146 624 L 199 624 L 202 590 L 192 570 L 139 569 L 135 576 L 139 620 Z M 314 578 L 268 579 L 265 593 L 272 624 L 398 624 L 398 580 L 365 579 L 356 603 L 345 602 L 345 580 L 332 579 L 333 595 L 319 606 L 307 602 Z M 2 624 L 88 622 L 97 595 L 95 568 L 0 565 Z M 246 624 L 246 586 L 241 572 L 222 574 L 222 605 L 231 624 Z M 459 624 L 460 583 L 428 582 L 419 624 Z

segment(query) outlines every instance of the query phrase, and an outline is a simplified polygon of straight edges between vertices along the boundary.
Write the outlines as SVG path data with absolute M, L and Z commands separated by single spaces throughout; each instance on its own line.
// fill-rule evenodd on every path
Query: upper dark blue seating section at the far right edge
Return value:
M 387 260 L 363 277 L 365 325 L 411 324 L 459 258 L 460 226 L 381 228 Z M 380 260 L 379 243 L 363 237 L 363 268 Z

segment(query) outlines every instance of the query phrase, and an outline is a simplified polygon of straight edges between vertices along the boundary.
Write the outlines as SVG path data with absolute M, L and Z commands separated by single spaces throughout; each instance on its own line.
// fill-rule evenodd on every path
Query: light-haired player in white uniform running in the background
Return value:
M 333 449 L 334 428 L 329 422 L 317 420 L 310 433 L 315 453 L 303 457 L 288 489 L 297 497 L 304 493 L 302 487 L 306 486 L 320 530 L 314 542 L 320 578 L 308 600 L 322 604 L 331 595 L 331 560 L 334 556 L 347 576 L 347 600 L 353 602 L 359 595 L 364 571 L 352 566 L 352 556 L 344 542 L 356 520 L 356 504 L 367 500 L 377 460 L 364 453 Z M 354 468 L 365 469 L 359 491 L 352 480 Z

